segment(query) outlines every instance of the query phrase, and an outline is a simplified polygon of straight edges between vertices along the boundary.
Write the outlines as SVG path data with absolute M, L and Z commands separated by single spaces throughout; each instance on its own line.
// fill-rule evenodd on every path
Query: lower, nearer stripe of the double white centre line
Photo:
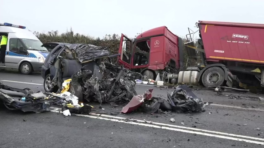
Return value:
M 51 112 L 59 112 L 59 111 L 51 110 Z M 218 138 L 223 138 L 223 139 L 229 139 L 229 140 L 235 140 L 235 141 L 243 141 L 243 142 L 249 142 L 249 143 L 255 143 L 255 144 L 264 145 L 264 142 L 258 142 L 258 141 L 252 141 L 252 140 L 240 139 L 240 138 L 234 138 L 234 137 L 227 137 L 227 136 L 221 136 L 221 135 L 214 135 L 214 134 L 209 134 L 209 133 L 201 133 L 201 132 L 195 132 L 195 131 L 184 130 L 184 129 L 169 128 L 169 127 L 157 126 L 157 125 L 145 124 L 145 123 L 126 122 L 126 121 L 123 121 L 123 120 L 109 119 L 109 118 L 90 116 L 90 115 L 81 115 L 81 114 L 73 114 L 73 115 L 84 116 L 84 117 L 89 117 L 89 118 L 94 118 L 94 119 L 102 119 L 102 120 L 107 120 L 107 121 L 121 122 L 121 123 L 126 123 L 126 124 L 154 127 L 154 128 L 158 128 L 158 129 L 168 129 L 168 130 L 173 130 L 173 131 L 178 131 L 178 132 L 193 133 L 193 134 L 198 134 L 198 135 L 204 135 L 204 136 L 210 136 L 210 137 L 218 137 Z

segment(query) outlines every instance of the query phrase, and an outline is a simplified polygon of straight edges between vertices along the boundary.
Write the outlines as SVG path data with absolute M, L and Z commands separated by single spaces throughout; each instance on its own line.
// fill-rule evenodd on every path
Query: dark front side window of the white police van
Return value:
M 10 39 L 9 40 L 9 51 L 16 54 L 27 55 L 25 47 L 18 39 Z

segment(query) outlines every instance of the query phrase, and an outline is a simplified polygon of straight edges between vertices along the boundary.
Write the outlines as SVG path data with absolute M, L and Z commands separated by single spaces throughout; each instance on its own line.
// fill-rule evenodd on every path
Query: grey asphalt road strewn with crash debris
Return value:
M 40 75 L 0 72 L 0 82 L 44 91 Z M 137 85 L 138 94 L 150 86 Z M 174 89 L 153 87 L 153 96 L 166 97 Z M 257 100 L 229 99 L 210 90 L 194 93 L 212 102 L 200 113 L 119 114 L 123 106 L 98 104 L 87 115 L 63 116 L 55 106 L 39 114 L 9 111 L 0 106 L 0 148 L 5 147 L 263 147 L 264 105 Z M 230 95 L 234 93 L 224 93 Z M 239 94 L 253 95 L 253 94 Z M 263 95 L 256 95 L 263 97 Z M 254 107 L 254 108 L 252 108 Z M 111 115 L 110 113 L 117 115 Z M 102 114 L 103 113 L 103 114 Z M 125 118 L 136 119 L 134 122 Z M 175 123 L 169 122 L 174 118 Z M 26 120 L 26 121 L 23 121 Z M 143 120 L 152 121 L 146 123 Z M 183 125 L 184 124 L 184 125 Z M 260 130 L 254 130 L 259 128 Z M 261 145 L 262 144 L 262 145 Z

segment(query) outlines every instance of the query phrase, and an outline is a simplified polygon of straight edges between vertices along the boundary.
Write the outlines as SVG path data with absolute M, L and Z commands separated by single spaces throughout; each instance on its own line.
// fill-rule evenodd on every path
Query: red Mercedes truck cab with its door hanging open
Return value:
M 158 73 L 170 72 L 183 65 L 182 49 L 182 39 L 165 26 L 141 33 L 134 42 L 122 34 L 118 62 L 140 72 L 144 80 L 154 79 Z

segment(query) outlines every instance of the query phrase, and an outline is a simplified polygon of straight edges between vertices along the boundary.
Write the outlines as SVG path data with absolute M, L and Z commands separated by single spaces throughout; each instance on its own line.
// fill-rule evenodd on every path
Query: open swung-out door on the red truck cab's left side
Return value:
M 118 53 L 120 53 L 119 63 L 130 69 L 132 41 L 123 34 L 121 35 Z

